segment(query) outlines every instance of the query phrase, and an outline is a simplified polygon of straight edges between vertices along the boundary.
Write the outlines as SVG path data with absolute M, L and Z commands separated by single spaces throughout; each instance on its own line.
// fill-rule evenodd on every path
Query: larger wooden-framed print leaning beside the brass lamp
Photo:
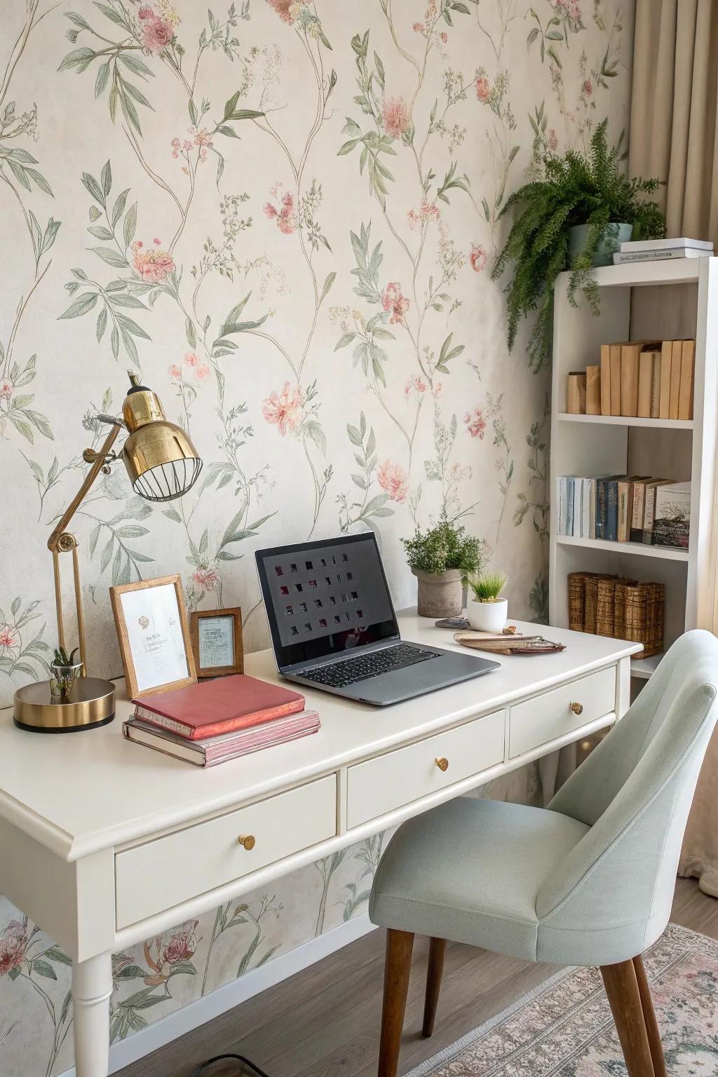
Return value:
M 130 699 L 197 683 L 180 576 L 110 588 Z

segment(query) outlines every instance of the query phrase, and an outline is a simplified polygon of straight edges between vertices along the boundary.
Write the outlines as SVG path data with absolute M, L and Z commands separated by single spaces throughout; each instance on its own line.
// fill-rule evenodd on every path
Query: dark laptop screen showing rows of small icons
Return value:
M 374 534 L 254 556 L 280 669 L 398 637 Z

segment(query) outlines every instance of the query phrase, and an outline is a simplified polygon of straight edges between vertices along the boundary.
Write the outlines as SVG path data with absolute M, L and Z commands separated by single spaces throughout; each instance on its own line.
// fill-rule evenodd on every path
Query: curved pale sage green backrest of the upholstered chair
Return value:
M 590 827 L 536 899 L 537 960 L 642 953 L 664 931 L 695 783 L 718 717 L 718 640 L 687 632 L 549 805 Z M 610 953 L 606 943 L 610 940 Z M 601 961 L 596 960 L 601 955 Z M 610 955 L 613 954 L 613 956 Z

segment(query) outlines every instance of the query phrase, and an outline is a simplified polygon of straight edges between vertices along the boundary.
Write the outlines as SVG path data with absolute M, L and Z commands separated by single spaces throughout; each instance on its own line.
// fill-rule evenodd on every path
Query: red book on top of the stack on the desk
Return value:
M 135 714 L 187 740 L 249 729 L 304 711 L 305 697 L 267 681 L 237 673 L 160 695 L 138 696 Z

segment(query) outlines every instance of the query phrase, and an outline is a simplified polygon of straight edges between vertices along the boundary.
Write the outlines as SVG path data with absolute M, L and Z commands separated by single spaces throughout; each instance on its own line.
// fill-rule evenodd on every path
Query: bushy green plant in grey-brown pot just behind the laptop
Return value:
M 462 612 L 464 584 L 479 567 L 479 540 L 442 519 L 436 527 L 403 538 L 409 568 L 418 581 L 420 617 L 455 617 Z

